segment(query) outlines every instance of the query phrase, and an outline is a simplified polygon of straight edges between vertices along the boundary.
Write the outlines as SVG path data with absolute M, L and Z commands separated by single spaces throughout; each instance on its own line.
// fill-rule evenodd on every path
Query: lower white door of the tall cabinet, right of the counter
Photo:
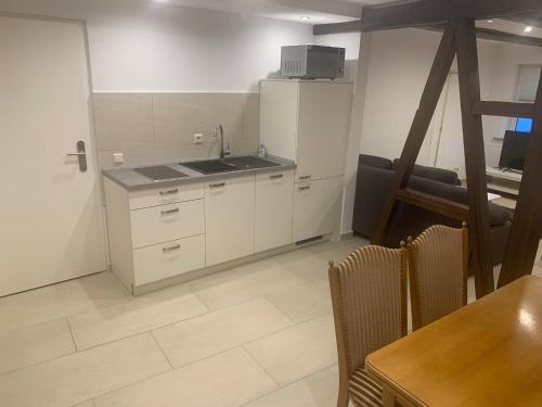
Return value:
M 343 208 L 343 177 L 295 185 L 294 241 L 336 232 Z

